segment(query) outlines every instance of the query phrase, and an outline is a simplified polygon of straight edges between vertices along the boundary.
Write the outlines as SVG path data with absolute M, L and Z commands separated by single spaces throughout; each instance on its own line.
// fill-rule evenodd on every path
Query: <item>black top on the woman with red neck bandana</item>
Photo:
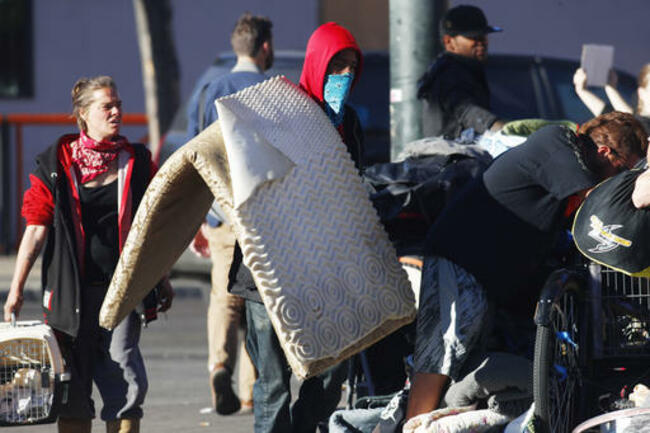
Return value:
M 117 181 L 95 188 L 81 186 L 79 199 L 86 239 L 84 283 L 108 285 L 119 257 Z

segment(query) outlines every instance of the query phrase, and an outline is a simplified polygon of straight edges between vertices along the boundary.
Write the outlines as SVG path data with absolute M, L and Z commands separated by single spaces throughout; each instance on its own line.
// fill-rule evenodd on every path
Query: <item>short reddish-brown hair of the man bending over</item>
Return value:
M 580 127 L 598 146 L 607 146 L 625 161 L 643 158 L 648 147 L 648 135 L 631 114 L 613 111 L 594 117 Z

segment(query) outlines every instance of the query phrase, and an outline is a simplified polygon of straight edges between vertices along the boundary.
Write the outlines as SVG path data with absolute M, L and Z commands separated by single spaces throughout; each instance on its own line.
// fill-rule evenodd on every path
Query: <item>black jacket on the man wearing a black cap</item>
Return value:
M 482 134 L 497 120 L 490 110 L 490 90 L 483 65 L 472 58 L 442 53 L 418 81 L 424 100 L 425 137 L 454 139 L 467 128 Z

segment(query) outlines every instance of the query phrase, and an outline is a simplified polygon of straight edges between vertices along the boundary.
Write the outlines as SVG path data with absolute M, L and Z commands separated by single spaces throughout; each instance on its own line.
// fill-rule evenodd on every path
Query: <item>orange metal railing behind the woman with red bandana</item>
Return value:
M 22 222 L 20 208 L 22 205 L 23 192 L 23 127 L 43 125 L 74 125 L 76 120 L 70 114 L 60 113 L 16 113 L 0 114 L 0 124 L 13 126 L 15 130 L 15 190 L 16 190 L 16 243 L 20 241 L 22 234 Z M 141 113 L 125 113 L 122 115 L 123 125 L 147 125 L 147 116 Z

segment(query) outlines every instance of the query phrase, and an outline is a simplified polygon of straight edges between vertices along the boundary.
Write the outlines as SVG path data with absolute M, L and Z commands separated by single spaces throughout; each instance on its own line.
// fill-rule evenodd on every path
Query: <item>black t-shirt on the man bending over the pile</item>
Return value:
M 597 183 L 549 126 L 497 158 L 445 208 L 427 236 L 428 253 L 472 273 L 488 297 L 509 304 L 539 269 L 566 223 L 568 198 Z

